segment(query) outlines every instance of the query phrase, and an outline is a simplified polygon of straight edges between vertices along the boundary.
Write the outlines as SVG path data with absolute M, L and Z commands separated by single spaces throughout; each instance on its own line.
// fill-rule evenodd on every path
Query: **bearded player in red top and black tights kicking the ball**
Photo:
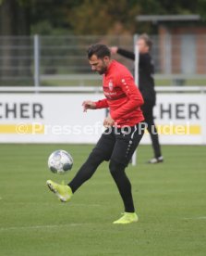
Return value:
M 82 106 L 84 111 L 109 108 L 109 114 L 103 120 L 105 131 L 89 158 L 67 186 L 51 180 L 46 184 L 58 198 L 66 202 L 79 186 L 91 178 L 97 167 L 107 160 L 125 208 L 123 216 L 114 224 L 134 223 L 138 221 L 138 215 L 125 170 L 144 133 L 144 117 L 140 109 L 143 98 L 131 73 L 125 66 L 111 59 L 110 49 L 106 45 L 91 45 L 88 58 L 91 70 L 103 75 L 105 98 L 96 102 L 84 101 Z

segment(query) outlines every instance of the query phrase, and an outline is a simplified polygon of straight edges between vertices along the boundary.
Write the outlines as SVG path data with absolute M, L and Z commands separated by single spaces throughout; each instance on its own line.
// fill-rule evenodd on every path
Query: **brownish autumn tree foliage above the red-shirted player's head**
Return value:
M 117 32 L 134 32 L 138 12 L 136 1 L 84 0 L 67 10 L 67 20 L 76 34 L 112 33 L 116 24 L 122 28 Z

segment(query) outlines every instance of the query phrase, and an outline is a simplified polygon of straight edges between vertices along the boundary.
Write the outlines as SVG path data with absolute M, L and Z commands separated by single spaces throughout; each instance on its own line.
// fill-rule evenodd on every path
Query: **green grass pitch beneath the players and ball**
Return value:
M 74 168 L 47 169 L 48 155 L 67 149 Z M 151 146 L 140 146 L 127 168 L 139 223 L 114 225 L 122 202 L 107 163 L 60 203 L 45 186 L 70 180 L 91 146 L 1 145 L 0 255 L 206 255 L 206 147 L 164 146 L 163 164 L 147 165 Z

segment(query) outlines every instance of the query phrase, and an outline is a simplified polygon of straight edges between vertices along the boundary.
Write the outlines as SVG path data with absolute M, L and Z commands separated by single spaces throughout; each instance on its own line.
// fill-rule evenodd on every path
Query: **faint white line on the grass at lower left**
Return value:
M 85 224 L 44 224 L 44 225 L 28 225 L 28 226 L 9 226 L 9 227 L 0 227 L 1 231 L 9 230 L 24 230 L 24 229 L 41 229 L 41 228 L 55 228 L 55 227 L 66 227 L 66 226 L 79 226 Z

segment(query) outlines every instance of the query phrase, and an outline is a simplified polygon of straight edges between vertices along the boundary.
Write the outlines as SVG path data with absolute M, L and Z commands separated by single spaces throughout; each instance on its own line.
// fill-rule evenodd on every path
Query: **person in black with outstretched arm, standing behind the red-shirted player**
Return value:
M 158 133 L 153 120 L 153 107 L 156 102 L 156 94 L 154 91 L 154 79 L 153 79 L 153 61 L 151 59 L 151 39 L 143 33 L 139 36 L 139 91 L 144 98 L 144 105 L 141 106 L 145 122 L 147 123 L 147 130 L 151 135 L 151 143 L 153 148 L 154 157 L 148 161 L 148 163 L 163 162 L 164 158 L 161 153 L 161 147 L 159 143 Z M 126 58 L 135 60 L 135 54 L 117 46 L 111 47 L 112 54 L 119 54 Z

